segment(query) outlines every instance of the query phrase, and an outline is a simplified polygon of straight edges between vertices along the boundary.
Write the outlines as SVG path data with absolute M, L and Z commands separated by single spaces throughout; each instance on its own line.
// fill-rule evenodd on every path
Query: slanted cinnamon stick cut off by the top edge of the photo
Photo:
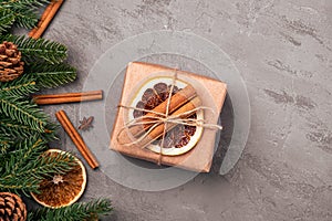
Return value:
M 29 36 L 33 39 L 39 39 L 43 32 L 46 30 L 48 25 L 52 21 L 53 17 L 56 14 L 58 10 L 60 9 L 63 0 L 53 0 L 44 10 L 41 19 L 33 30 L 29 33 Z

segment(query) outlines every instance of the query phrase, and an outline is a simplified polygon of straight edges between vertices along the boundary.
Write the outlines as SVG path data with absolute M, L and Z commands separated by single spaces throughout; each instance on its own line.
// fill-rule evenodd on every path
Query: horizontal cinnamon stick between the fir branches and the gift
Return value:
M 103 99 L 103 91 L 91 91 L 81 93 L 63 93 L 32 96 L 35 104 L 64 104 L 74 102 L 87 102 Z

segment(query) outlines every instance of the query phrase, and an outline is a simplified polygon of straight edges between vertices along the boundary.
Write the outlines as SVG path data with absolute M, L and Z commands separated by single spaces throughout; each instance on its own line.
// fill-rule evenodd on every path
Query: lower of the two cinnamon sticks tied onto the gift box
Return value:
M 196 96 L 195 98 L 193 98 L 191 101 L 189 101 L 188 103 L 186 103 L 185 105 L 183 105 L 180 108 L 178 108 L 177 110 L 175 110 L 170 116 L 176 116 L 176 115 L 184 114 L 186 112 L 190 112 L 190 110 L 195 109 L 196 107 L 200 106 L 200 104 L 201 104 L 200 98 Z M 189 117 L 193 114 L 183 115 L 181 118 L 187 118 L 187 117 Z M 146 147 L 147 145 L 149 145 L 151 143 L 153 143 L 154 140 L 156 140 L 157 138 L 162 137 L 163 134 L 164 134 L 164 131 L 165 133 L 169 131 L 176 125 L 177 124 L 167 123 L 166 124 L 166 128 L 164 130 L 165 124 L 160 124 L 157 127 L 155 127 L 148 134 L 148 136 L 146 136 L 144 139 L 139 140 L 138 143 L 134 144 L 134 146 L 141 147 L 141 148 Z M 129 144 L 129 143 L 133 141 L 129 136 L 120 137 L 120 140 L 123 144 Z

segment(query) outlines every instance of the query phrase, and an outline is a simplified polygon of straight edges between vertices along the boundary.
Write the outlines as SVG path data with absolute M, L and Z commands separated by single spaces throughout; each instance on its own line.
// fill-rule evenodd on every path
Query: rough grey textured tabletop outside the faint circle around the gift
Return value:
M 105 220 L 332 220 L 331 0 L 68 0 L 45 38 L 69 45 L 80 91 L 98 56 L 155 30 L 201 35 L 229 54 L 248 87 L 251 128 L 227 176 L 144 192 L 89 169 L 83 200 L 110 197 Z M 79 105 L 65 108 L 75 124 Z M 62 133 L 62 148 L 74 149 Z

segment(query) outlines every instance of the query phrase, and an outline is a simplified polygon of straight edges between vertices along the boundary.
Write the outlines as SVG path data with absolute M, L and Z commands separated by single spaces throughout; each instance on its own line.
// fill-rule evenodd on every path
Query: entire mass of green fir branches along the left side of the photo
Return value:
M 6 34 L 12 25 L 33 28 L 38 8 L 49 0 L 0 0 L 0 43 L 18 45 L 24 61 L 24 74 L 0 82 L 0 191 L 18 194 L 38 192 L 40 182 L 53 173 L 72 169 L 69 155 L 46 157 L 46 143 L 55 137 L 56 125 L 31 102 L 30 95 L 42 87 L 58 87 L 76 77 L 74 67 L 64 64 L 66 48 L 44 39 Z M 40 209 L 29 213 L 29 220 L 92 220 L 112 211 L 108 200 L 74 203 L 61 209 Z

